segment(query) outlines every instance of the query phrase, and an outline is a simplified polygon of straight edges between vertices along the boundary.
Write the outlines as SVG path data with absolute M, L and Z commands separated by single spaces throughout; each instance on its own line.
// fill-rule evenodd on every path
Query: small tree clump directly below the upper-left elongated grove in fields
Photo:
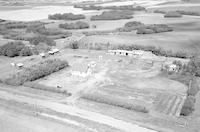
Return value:
M 78 21 L 76 23 L 64 23 L 64 24 L 59 24 L 60 28 L 64 29 L 86 29 L 89 28 L 89 24 L 86 22 Z

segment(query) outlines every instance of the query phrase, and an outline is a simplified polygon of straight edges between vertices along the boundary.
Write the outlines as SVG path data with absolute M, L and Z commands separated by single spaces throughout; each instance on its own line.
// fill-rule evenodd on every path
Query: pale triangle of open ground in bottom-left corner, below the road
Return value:
M 0 108 L 0 116 L 1 132 L 80 132 L 82 130 L 2 108 Z

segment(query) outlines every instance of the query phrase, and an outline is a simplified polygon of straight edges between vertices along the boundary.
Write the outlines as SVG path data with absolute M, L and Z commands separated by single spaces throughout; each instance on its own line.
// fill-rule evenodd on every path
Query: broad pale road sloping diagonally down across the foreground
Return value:
M 9 87 L 9 86 L 7 86 L 7 87 Z M 112 118 L 109 116 L 102 115 L 100 113 L 83 110 L 83 109 L 80 109 L 80 108 L 77 108 L 74 106 L 61 104 L 61 103 L 58 103 L 55 101 L 38 99 L 37 97 L 29 97 L 26 95 L 20 95 L 19 93 L 15 94 L 15 93 L 11 93 L 9 91 L 0 90 L 0 99 L 14 100 L 16 102 L 26 103 L 29 105 L 37 104 L 37 106 L 42 107 L 42 108 L 47 108 L 47 109 L 50 109 L 50 110 L 53 110 L 55 112 L 59 112 L 62 114 L 65 113 L 65 114 L 69 114 L 72 116 L 77 116 L 82 119 L 86 119 L 86 120 L 90 120 L 90 121 L 97 122 L 100 124 L 104 124 L 104 125 L 107 125 L 107 126 L 110 126 L 110 127 L 113 127 L 113 128 L 125 131 L 125 132 L 156 132 L 155 130 L 150 130 L 150 129 L 147 129 L 144 127 L 140 127 L 136 124 L 118 120 L 118 119 L 115 119 L 115 118 Z M 38 113 L 38 114 L 44 115 L 44 113 Z M 49 118 L 51 118 L 51 117 L 52 116 L 49 115 Z M 59 119 L 59 117 L 54 116 L 54 119 Z

